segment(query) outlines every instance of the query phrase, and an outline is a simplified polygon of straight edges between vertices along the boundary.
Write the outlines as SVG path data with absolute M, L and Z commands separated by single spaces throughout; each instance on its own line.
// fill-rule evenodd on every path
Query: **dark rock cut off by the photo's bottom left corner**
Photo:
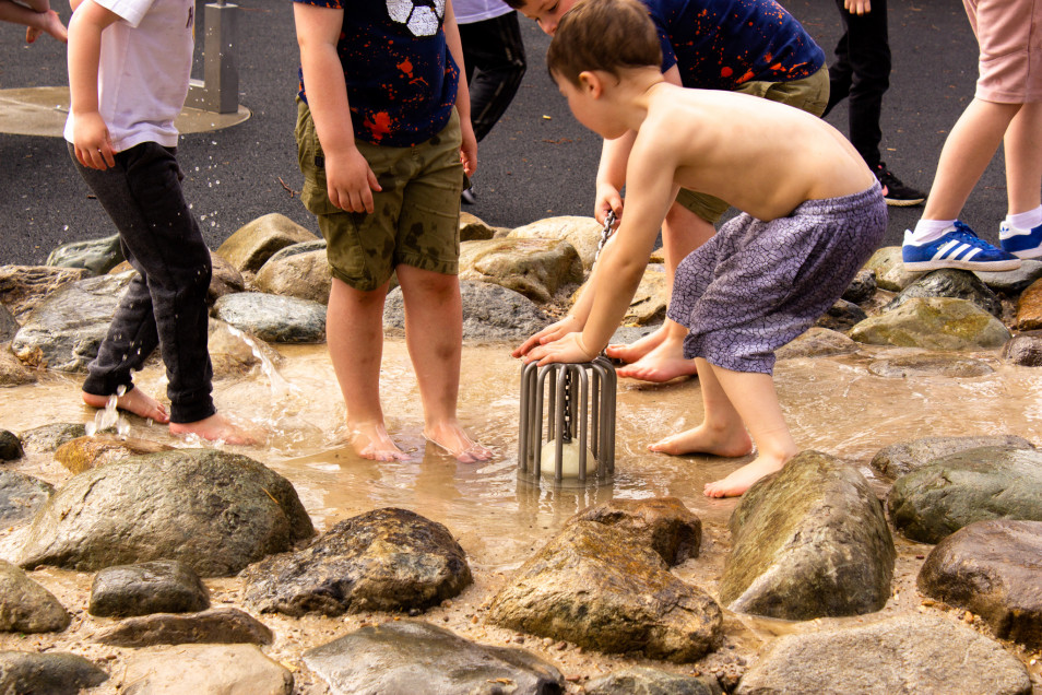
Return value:
M 79 695 L 107 680 L 108 673 L 76 655 L 0 651 L 0 693 Z

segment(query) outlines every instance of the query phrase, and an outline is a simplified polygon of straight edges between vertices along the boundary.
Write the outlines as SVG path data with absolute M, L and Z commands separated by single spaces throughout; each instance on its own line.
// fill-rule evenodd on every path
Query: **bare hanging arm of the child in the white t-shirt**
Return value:
M 93 0 L 81 0 L 69 21 L 69 108 L 73 115 L 72 144 L 80 164 L 92 169 L 116 165 L 108 126 L 98 113 L 97 75 L 102 32 L 119 15 Z

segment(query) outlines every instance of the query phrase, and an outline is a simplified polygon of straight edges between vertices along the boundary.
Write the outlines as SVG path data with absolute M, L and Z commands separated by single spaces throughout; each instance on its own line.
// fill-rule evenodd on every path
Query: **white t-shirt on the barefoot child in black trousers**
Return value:
M 102 32 L 98 111 L 117 152 L 142 142 L 177 145 L 174 118 L 188 96 L 194 0 L 94 0 L 121 19 Z M 73 115 L 66 120 L 72 142 Z

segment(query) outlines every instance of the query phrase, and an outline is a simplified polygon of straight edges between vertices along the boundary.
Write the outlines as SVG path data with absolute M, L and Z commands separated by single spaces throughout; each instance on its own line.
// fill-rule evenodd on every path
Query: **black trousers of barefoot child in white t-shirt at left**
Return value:
M 116 166 L 88 169 L 69 153 L 119 232 L 123 256 L 138 271 L 119 302 L 83 390 L 110 396 L 133 388 L 159 348 L 169 381 L 170 421 L 197 422 L 216 412 L 211 391 L 206 290 L 212 264 L 181 193 L 176 150 L 144 142 L 116 154 Z

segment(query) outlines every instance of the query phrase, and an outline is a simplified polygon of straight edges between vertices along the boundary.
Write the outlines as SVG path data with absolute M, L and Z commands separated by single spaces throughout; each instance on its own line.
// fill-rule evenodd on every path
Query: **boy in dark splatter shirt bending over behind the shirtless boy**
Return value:
M 577 0 L 506 0 L 535 20 L 547 34 Z M 800 22 L 774 0 L 641 0 L 651 15 L 662 50 L 662 73 L 672 84 L 703 90 L 744 92 L 820 116 L 829 101 L 825 51 Z M 606 140 L 597 170 L 594 215 L 623 211 L 623 180 L 634 133 Z M 662 223 L 668 284 L 677 263 L 715 232 L 729 205 L 723 200 L 680 189 Z M 596 271 L 594 271 L 596 272 Z M 561 320 L 575 323 L 588 310 L 583 299 Z M 668 381 L 694 375 L 695 363 L 683 356 L 687 331 L 668 318 L 661 329 L 631 345 L 611 345 L 607 354 L 630 363 L 618 375 Z

